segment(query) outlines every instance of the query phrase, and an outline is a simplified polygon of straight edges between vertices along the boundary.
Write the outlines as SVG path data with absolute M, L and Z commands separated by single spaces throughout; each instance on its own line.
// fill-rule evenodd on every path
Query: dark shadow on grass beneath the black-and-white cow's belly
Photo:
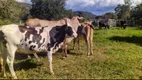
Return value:
M 38 66 L 41 66 L 41 65 L 42 65 L 41 63 L 37 64 L 37 62 L 34 62 L 31 59 L 27 59 L 22 62 L 16 63 L 14 65 L 14 68 L 16 70 L 22 70 L 22 69 L 29 70 L 29 69 L 37 68 Z

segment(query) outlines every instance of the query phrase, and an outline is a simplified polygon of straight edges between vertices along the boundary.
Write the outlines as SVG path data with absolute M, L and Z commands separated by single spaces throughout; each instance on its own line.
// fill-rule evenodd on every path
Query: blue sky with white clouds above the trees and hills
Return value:
M 17 0 L 18 2 L 31 3 L 30 0 Z M 133 5 L 141 3 L 142 0 L 133 0 Z M 124 0 L 66 0 L 66 9 L 73 11 L 87 11 L 95 15 L 114 12 L 118 4 L 124 4 Z

